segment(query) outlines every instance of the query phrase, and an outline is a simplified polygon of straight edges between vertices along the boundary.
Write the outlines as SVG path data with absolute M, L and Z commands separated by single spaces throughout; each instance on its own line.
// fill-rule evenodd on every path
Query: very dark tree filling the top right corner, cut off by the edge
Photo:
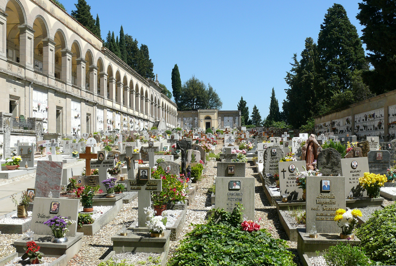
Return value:
M 356 16 L 362 30 L 362 40 L 366 44 L 367 60 L 373 65 L 372 71 L 363 73 L 363 80 L 370 90 L 382 94 L 394 90 L 396 84 L 396 4 L 395 1 L 363 0 Z

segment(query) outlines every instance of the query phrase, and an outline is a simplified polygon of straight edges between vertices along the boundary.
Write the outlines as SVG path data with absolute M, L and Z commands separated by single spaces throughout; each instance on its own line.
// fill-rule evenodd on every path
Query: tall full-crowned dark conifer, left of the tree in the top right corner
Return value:
M 327 10 L 320 25 L 318 51 L 322 63 L 321 76 L 326 80 L 325 98 L 350 88 L 354 70 L 367 69 L 362 41 L 340 4 Z

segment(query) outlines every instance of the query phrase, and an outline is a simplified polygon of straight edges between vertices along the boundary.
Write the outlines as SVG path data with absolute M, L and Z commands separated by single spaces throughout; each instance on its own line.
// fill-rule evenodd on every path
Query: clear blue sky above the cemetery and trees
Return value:
M 60 0 L 70 13 L 77 0 Z M 249 112 L 268 115 L 275 88 L 282 111 L 284 80 L 293 53 L 304 40 L 318 39 L 320 24 L 334 1 L 127 1 L 86 0 L 99 14 L 101 34 L 128 33 L 146 44 L 158 80 L 171 88 L 171 71 L 179 66 L 181 82 L 192 75 L 210 83 L 223 101 L 223 110 L 236 110 L 241 96 Z M 361 36 L 356 19 L 359 0 L 342 4 Z M 296 96 L 298 97 L 298 96 Z

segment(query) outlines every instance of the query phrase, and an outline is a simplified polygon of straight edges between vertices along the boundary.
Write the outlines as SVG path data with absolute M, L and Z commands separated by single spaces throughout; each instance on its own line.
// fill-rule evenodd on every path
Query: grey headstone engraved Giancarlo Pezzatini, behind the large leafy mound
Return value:
M 217 177 L 215 208 L 232 212 L 235 203 L 242 203 L 241 210 L 247 220 L 254 221 L 254 178 L 253 177 Z M 236 182 L 236 188 L 233 188 Z

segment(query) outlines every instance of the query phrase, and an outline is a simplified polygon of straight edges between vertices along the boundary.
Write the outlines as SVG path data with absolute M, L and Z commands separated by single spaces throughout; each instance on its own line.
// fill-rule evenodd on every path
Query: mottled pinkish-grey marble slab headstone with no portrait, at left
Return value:
M 53 198 L 59 198 L 62 182 L 62 162 L 38 161 L 36 168 L 36 197 L 48 197 L 49 191 Z

